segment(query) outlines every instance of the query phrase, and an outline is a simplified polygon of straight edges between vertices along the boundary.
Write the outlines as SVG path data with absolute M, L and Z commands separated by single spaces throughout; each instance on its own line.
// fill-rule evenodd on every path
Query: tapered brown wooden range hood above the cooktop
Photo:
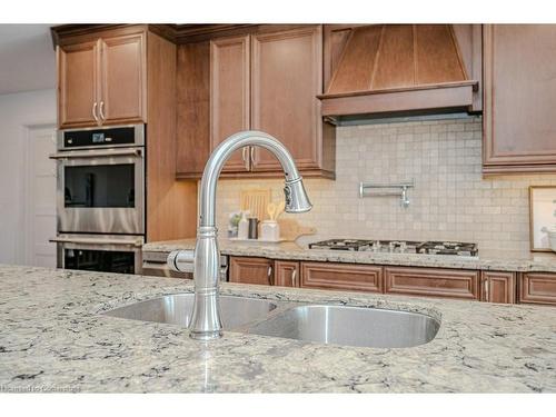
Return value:
M 337 121 L 474 110 L 478 80 L 468 77 L 471 66 L 466 68 L 458 44 L 464 31 L 457 30 L 453 24 L 373 24 L 338 31 L 329 40 L 331 78 L 318 96 L 322 116 Z

